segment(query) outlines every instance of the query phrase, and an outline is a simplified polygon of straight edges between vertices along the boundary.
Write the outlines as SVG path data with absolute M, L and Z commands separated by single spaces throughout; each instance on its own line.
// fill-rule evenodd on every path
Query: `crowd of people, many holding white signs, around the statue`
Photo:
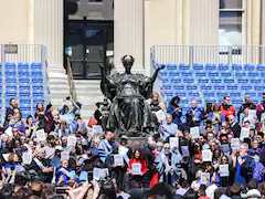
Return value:
M 56 114 L 38 103 L 23 121 L 11 98 L 0 128 L 0 198 L 265 198 L 265 94 L 261 104 L 245 96 L 239 112 L 230 96 L 205 109 L 194 100 L 187 112 L 180 102 L 166 106 L 153 93 L 157 130 L 131 146 L 103 130 L 102 103 L 88 122 L 71 97 Z

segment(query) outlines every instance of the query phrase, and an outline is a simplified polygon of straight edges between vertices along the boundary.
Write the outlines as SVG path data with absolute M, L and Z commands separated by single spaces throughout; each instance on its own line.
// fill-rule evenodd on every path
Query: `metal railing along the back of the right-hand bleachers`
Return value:
M 153 45 L 152 62 L 156 63 L 265 63 L 265 45 Z

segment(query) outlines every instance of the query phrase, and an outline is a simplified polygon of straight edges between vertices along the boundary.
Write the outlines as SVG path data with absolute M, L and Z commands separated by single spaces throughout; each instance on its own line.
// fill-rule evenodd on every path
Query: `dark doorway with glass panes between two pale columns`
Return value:
M 75 78 L 100 78 L 99 63 L 107 66 L 114 52 L 113 21 L 70 20 L 65 57 L 68 56 Z

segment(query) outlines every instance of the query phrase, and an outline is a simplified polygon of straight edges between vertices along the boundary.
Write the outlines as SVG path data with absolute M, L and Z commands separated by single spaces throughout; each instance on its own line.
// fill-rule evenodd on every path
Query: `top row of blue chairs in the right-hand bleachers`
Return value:
M 161 63 L 157 63 L 157 66 L 161 66 L 162 64 Z M 229 71 L 229 70 L 233 70 L 233 71 L 265 71 L 265 64 L 257 64 L 257 65 L 254 65 L 254 64 L 231 64 L 231 67 L 229 64 L 223 64 L 223 63 L 220 63 L 219 65 L 216 64 L 211 64 L 211 63 L 208 63 L 208 64 L 202 64 L 202 63 L 194 63 L 192 65 L 192 67 L 190 66 L 190 64 L 186 64 L 186 63 L 180 63 L 179 65 L 178 64 L 174 64 L 174 63 L 169 63 L 169 64 L 165 64 L 166 65 L 166 69 L 167 70 L 206 70 L 206 71 L 212 71 L 212 70 L 219 70 L 219 71 Z

